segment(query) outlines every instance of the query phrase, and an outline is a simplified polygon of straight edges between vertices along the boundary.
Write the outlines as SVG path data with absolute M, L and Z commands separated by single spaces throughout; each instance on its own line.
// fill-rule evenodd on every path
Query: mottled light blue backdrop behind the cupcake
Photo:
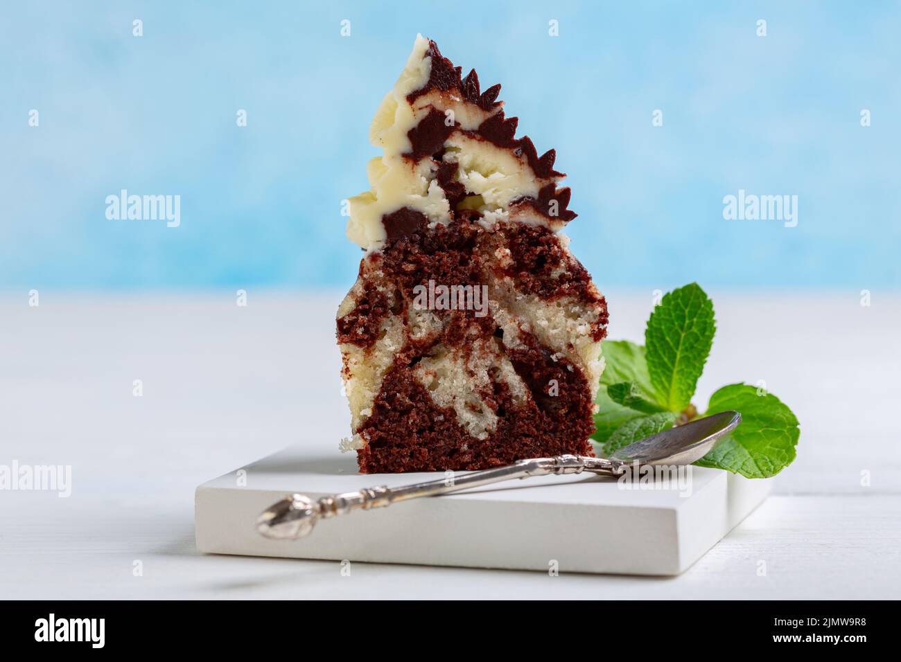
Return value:
M 5 3 L 0 287 L 350 285 L 341 200 L 417 32 L 556 148 L 602 288 L 897 287 L 899 6 Z M 107 220 L 122 188 L 181 195 L 181 226 Z M 740 188 L 798 226 L 725 221 Z

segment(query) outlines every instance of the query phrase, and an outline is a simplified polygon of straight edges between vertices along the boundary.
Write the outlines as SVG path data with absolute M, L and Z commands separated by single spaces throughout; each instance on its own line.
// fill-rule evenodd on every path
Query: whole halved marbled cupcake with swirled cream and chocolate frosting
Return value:
M 515 137 L 499 92 L 419 36 L 372 122 L 383 156 L 347 229 L 366 254 L 337 315 L 341 448 L 363 473 L 592 454 L 605 299 L 560 233 L 554 150 Z

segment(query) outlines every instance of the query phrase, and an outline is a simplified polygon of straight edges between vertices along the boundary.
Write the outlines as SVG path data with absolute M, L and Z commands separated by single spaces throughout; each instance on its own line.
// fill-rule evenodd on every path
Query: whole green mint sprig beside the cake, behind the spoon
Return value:
M 605 340 L 606 367 L 592 435 L 599 453 L 609 456 L 696 416 L 691 398 L 715 328 L 713 302 L 692 283 L 665 295 L 651 313 L 646 348 L 626 340 Z M 751 385 L 727 385 L 711 396 L 703 415 L 727 410 L 742 413 L 742 423 L 697 465 L 765 478 L 795 459 L 798 422 L 778 397 Z

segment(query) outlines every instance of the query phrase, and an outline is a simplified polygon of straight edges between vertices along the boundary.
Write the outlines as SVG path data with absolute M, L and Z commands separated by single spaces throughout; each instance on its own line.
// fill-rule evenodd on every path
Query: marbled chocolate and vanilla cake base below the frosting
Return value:
M 484 286 L 486 314 L 418 308 L 417 293 L 430 282 Z M 472 215 L 433 227 L 420 223 L 362 260 L 355 289 L 353 307 L 338 320 L 339 342 L 363 352 L 345 352 L 345 378 L 353 379 L 354 358 L 382 358 L 371 399 L 361 407 L 366 415 L 354 430 L 360 471 L 469 469 L 536 453 L 590 453 L 599 375 L 591 359 L 605 335 L 606 304 L 558 234 L 522 223 L 488 230 Z M 530 318 L 505 299 L 553 313 Z M 579 311 L 578 322 L 555 318 L 557 304 Z M 359 321 L 361 308 L 368 323 Z M 421 323 L 423 314 L 430 324 Z M 369 322 L 381 331 L 372 332 Z M 568 323 L 584 327 L 577 340 L 587 351 L 570 341 L 571 329 L 561 334 L 563 342 L 538 337 L 548 326 Z M 384 341 L 387 351 L 379 345 Z M 430 385 L 440 379 L 454 382 L 453 406 L 432 397 Z M 460 412 L 471 420 L 461 421 Z

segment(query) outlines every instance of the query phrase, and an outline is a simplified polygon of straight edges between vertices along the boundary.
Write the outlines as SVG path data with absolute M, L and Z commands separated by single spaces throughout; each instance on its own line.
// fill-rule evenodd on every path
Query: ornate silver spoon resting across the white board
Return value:
M 583 471 L 598 476 L 618 476 L 625 467 L 634 467 L 636 463 L 637 466 L 651 467 L 689 465 L 714 449 L 740 422 L 742 414 L 738 412 L 715 413 L 638 440 L 615 451 L 610 458 L 559 455 L 555 458 L 521 459 L 506 467 L 452 475 L 414 485 L 380 485 L 359 492 L 321 496 L 315 500 L 304 494 L 290 494 L 259 515 L 257 531 L 267 538 L 294 540 L 313 531 L 321 518 L 327 519 L 353 510 L 379 508 L 420 496 L 448 494 L 512 478 L 580 474 Z

